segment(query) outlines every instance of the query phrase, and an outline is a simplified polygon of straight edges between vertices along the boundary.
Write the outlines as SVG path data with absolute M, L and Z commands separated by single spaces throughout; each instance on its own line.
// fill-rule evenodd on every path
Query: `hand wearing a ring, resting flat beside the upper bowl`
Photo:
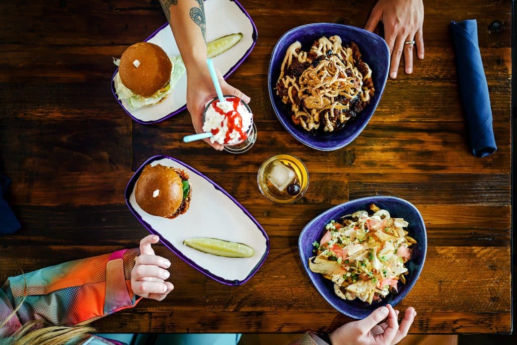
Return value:
M 400 58 L 404 52 L 405 72 L 413 72 L 413 44 L 415 41 L 417 56 L 423 59 L 423 2 L 422 0 L 379 0 L 364 26 L 373 32 L 379 21 L 384 25 L 384 39 L 391 54 L 389 76 L 397 78 Z

